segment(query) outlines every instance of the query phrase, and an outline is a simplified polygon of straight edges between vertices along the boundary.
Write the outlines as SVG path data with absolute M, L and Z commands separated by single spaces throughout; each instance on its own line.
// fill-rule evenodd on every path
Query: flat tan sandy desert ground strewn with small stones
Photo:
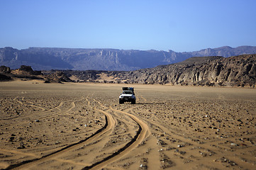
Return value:
M 256 89 L 0 83 L 0 169 L 256 169 Z

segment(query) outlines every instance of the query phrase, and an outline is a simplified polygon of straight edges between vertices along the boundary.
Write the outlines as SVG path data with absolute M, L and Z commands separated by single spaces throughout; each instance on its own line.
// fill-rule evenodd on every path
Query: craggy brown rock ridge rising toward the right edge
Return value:
M 209 57 L 203 62 L 194 58 L 178 64 L 128 72 L 128 83 L 200 86 L 255 86 L 256 55 Z

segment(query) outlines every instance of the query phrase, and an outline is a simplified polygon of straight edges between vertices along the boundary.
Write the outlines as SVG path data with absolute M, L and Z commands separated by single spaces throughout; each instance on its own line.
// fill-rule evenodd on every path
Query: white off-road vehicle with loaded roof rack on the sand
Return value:
M 124 102 L 136 103 L 133 87 L 123 87 L 123 93 L 119 96 L 119 103 L 123 104 Z

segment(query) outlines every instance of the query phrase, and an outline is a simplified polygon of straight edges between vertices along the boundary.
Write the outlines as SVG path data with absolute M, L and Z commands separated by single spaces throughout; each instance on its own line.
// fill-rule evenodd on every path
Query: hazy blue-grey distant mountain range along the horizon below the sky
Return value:
M 73 69 L 132 71 L 174 64 L 190 57 L 256 54 L 255 46 L 218 47 L 194 52 L 174 52 L 157 50 L 116 50 L 30 47 L 17 50 L 12 47 L 0 48 L 0 65 L 17 69 L 21 65 L 34 70 Z

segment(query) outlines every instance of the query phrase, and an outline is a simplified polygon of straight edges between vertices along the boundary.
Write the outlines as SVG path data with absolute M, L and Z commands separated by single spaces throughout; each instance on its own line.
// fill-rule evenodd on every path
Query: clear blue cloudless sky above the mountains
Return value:
M 256 45 L 255 0 L 0 0 L 0 47 Z

